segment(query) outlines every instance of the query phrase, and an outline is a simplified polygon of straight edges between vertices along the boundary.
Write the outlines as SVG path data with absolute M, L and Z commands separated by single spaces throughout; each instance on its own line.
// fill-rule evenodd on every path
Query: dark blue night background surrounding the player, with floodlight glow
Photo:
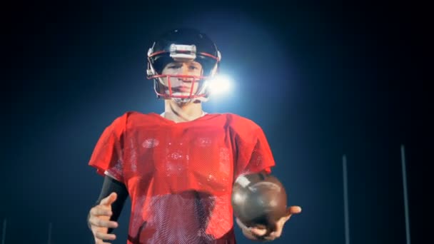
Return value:
M 275 243 L 345 243 L 343 155 L 350 243 L 406 243 L 401 146 L 411 240 L 422 243 L 429 162 L 420 153 L 427 111 L 416 7 L 18 1 L 1 13 L 6 244 L 47 243 L 50 223 L 51 243 L 91 243 L 86 215 L 102 183 L 87 165 L 91 152 L 125 111 L 163 111 L 145 78 L 146 52 L 158 34 L 183 26 L 216 41 L 221 72 L 234 80 L 205 110 L 262 126 L 274 173 L 303 208 Z M 113 243 L 126 243 L 129 210 L 128 201 Z

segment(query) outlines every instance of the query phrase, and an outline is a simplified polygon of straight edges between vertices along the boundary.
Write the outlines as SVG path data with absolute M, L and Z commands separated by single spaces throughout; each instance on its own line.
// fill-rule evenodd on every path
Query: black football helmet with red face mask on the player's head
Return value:
M 208 101 L 207 81 L 218 73 L 220 60 L 220 51 L 208 36 L 194 29 L 176 29 L 163 34 L 148 50 L 147 78 L 153 79 L 157 98 L 176 103 Z M 193 61 L 201 64 L 201 75 L 163 73 L 169 63 Z M 191 83 L 190 91 L 176 91 L 173 84 L 180 80 Z

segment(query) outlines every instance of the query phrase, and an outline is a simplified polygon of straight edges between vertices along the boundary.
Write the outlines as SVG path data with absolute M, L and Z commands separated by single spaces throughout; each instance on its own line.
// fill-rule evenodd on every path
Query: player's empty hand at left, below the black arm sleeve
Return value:
M 104 240 L 115 240 L 116 235 L 109 234 L 109 228 L 117 228 L 116 221 L 110 221 L 111 204 L 114 203 L 118 195 L 111 193 L 109 196 L 101 200 L 99 205 L 91 208 L 89 212 L 89 225 L 91 226 L 92 233 L 94 234 L 96 244 L 107 244 Z

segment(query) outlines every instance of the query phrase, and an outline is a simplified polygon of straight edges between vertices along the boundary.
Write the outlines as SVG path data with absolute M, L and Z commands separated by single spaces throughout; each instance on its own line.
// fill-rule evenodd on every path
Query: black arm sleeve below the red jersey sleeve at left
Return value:
M 126 186 L 123 183 L 121 183 L 120 181 L 116 181 L 115 179 L 109 176 L 105 176 L 104 183 L 101 188 L 101 193 L 99 194 L 99 198 L 98 200 L 96 200 L 94 206 L 99 205 L 101 200 L 103 200 L 113 192 L 118 194 L 118 198 L 116 198 L 114 203 L 111 205 L 111 211 L 113 212 L 113 215 L 111 215 L 110 220 L 116 221 L 118 220 L 119 215 L 121 215 L 123 204 L 125 203 L 125 200 L 128 197 L 128 190 L 126 189 Z M 89 225 L 89 216 L 90 213 L 88 215 L 88 225 Z M 113 229 L 109 228 L 109 233 L 111 233 L 112 231 Z

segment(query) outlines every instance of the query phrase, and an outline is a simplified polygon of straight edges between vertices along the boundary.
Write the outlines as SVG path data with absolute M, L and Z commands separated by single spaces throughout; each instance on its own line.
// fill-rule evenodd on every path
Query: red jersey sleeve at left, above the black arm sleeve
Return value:
M 110 176 L 123 182 L 123 138 L 126 116 L 116 118 L 107 126 L 96 143 L 89 166 L 96 168 L 101 176 Z

